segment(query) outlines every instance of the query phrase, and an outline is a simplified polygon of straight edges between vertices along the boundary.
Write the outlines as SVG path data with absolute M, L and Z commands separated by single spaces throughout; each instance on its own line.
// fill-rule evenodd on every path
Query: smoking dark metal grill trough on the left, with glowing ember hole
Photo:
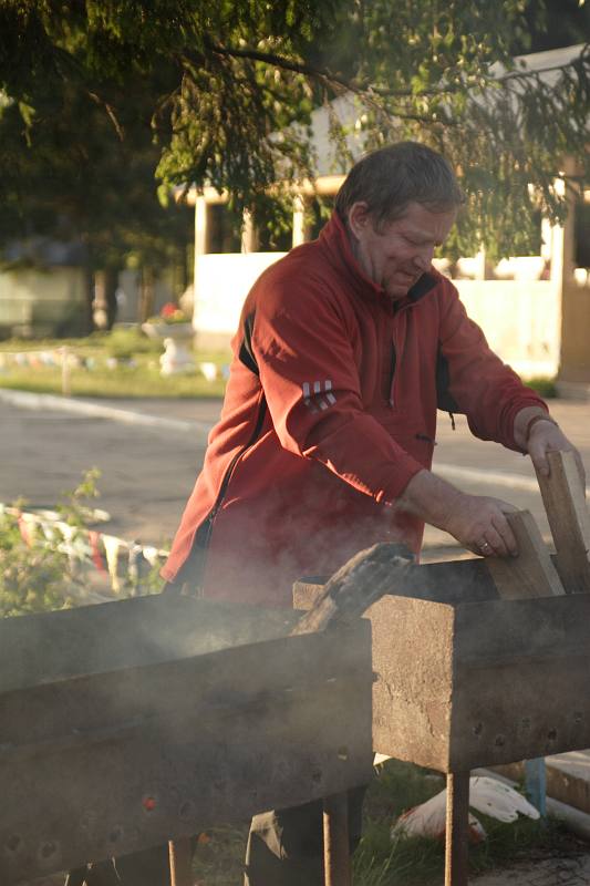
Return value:
M 0 622 L 6 886 L 371 775 L 371 631 L 147 597 Z

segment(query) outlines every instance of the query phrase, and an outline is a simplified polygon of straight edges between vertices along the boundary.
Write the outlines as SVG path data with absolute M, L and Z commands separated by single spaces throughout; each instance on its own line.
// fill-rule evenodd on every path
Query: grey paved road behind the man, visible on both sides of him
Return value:
M 113 516 L 108 532 L 144 544 L 172 538 L 203 463 L 219 400 L 74 403 L 75 409 L 87 404 L 90 414 L 82 414 L 54 409 L 56 398 L 38 398 L 25 409 L 2 399 L 9 395 L 0 391 L 0 502 L 24 496 L 34 505 L 52 505 L 85 468 L 96 466 L 102 472 L 100 506 Z M 92 414 L 96 408 L 105 416 Z M 590 476 L 590 406 L 552 401 L 551 412 L 581 449 Z M 159 423 L 144 424 L 149 416 Z M 434 470 L 466 492 L 528 507 L 549 538 L 530 461 L 475 440 L 463 416 L 456 422 L 452 431 L 448 419 L 439 416 Z M 454 546 L 449 536 L 432 528 L 425 540 L 438 549 Z

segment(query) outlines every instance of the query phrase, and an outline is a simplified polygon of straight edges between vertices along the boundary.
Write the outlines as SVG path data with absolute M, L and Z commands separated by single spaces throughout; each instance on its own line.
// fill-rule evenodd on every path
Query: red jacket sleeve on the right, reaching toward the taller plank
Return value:
M 441 354 L 446 363 L 448 393 L 480 440 L 494 440 L 522 452 L 514 439 L 517 413 L 547 405 L 490 350 L 482 329 L 467 316 L 455 287 L 442 293 Z

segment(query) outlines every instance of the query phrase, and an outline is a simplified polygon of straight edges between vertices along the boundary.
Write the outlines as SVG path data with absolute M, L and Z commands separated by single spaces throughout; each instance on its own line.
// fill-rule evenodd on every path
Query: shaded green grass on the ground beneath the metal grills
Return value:
M 364 803 L 363 837 L 353 858 L 354 886 L 439 886 L 444 878 L 444 844 L 426 837 L 392 841 L 400 813 L 434 796 L 445 786 L 441 773 L 390 760 L 377 770 Z M 587 852 L 560 823 L 520 817 L 511 824 L 477 817 L 487 839 L 469 847 L 473 875 L 516 863 L 532 863 Z M 195 855 L 196 882 L 203 886 L 241 883 L 248 825 L 207 831 Z

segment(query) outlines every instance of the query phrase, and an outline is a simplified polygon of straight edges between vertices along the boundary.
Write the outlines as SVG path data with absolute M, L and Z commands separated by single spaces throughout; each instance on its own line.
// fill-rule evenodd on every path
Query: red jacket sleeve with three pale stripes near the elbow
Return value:
M 318 284 L 299 287 L 297 298 L 286 286 L 266 285 L 252 336 L 279 441 L 391 504 L 423 468 L 363 410 L 354 322 Z

